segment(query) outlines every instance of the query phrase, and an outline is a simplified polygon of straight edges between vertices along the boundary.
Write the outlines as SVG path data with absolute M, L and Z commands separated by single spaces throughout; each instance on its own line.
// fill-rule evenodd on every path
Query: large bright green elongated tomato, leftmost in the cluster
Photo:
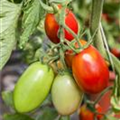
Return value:
M 35 62 L 22 74 L 14 89 L 14 105 L 18 112 L 37 108 L 47 97 L 54 73 L 47 65 Z

